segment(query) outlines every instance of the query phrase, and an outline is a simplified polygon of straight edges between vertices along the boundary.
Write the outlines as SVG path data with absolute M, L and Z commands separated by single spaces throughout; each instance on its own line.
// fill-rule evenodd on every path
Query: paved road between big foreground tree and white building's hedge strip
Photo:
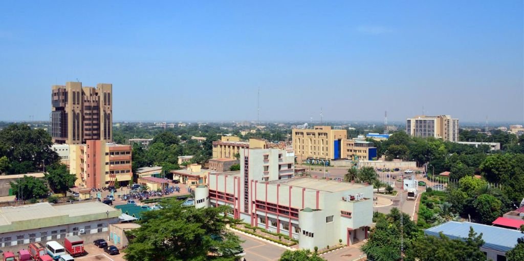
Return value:
M 242 243 L 242 247 L 244 248 L 244 252 L 246 252 L 246 255 L 244 256 L 246 261 L 278 260 L 282 253 L 286 251 L 285 248 L 257 240 L 256 238 L 240 233 L 235 234 L 238 235 L 241 240 L 245 241 Z

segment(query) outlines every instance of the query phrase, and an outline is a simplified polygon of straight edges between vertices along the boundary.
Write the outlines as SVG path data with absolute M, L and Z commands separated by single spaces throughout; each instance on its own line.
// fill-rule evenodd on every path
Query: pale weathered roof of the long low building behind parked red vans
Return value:
M 0 208 L 0 233 L 118 217 L 120 211 L 97 201 L 37 203 Z

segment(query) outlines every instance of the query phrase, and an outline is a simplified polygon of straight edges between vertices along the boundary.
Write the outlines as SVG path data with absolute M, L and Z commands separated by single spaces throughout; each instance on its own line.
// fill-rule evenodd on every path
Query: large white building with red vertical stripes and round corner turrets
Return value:
M 299 240 L 300 248 L 354 244 L 373 220 L 373 187 L 294 178 L 293 150 L 242 149 L 241 170 L 212 172 L 195 190 L 196 207 L 230 205 L 233 216 Z

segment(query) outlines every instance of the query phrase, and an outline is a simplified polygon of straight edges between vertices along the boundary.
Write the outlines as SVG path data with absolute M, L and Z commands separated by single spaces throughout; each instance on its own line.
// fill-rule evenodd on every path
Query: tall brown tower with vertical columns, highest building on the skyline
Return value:
M 54 143 L 85 144 L 86 140 L 113 140 L 113 85 L 81 82 L 53 85 L 51 136 Z

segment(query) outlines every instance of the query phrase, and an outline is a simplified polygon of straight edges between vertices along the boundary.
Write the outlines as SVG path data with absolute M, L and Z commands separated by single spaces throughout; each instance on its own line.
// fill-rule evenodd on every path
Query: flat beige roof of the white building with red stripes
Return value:
M 325 179 L 314 179 L 309 177 L 297 177 L 292 179 L 281 179 L 269 181 L 271 183 L 287 184 L 293 187 L 300 187 L 306 189 L 320 190 L 326 192 L 339 192 L 350 189 L 364 188 L 367 187 L 364 184 L 359 183 L 348 183 L 334 180 Z

